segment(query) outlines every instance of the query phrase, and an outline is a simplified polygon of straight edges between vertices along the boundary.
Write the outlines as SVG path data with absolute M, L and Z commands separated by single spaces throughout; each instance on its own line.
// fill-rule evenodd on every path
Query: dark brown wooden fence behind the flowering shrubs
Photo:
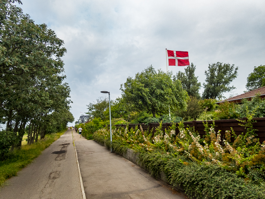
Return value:
M 241 120 L 247 120 L 247 118 L 242 118 Z M 253 128 L 258 130 L 258 131 L 255 131 L 255 133 L 257 133 L 257 135 L 258 135 L 257 138 L 259 138 L 260 143 L 262 143 L 263 141 L 265 141 L 265 118 L 253 118 L 253 120 L 257 121 L 257 122 L 253 123 Z M 203 135 L 205 135 L 203 122 L 206 122 L 206 121 L 193 120 L 192 122 L 184 122 L 184 126 L 185 126 L 185 128 L 187 128 L 188 126 L 194 127 L 195 131 L 198 131 L 198 133 L 202 137 Z M 209 120 L 207 122 L 209 125 L 213 123 L 212 120 Z M 216 126 L 215 131 L 217 132 L 218 130 L 221 130 L 221 140 L 222 141 L 223 141 L 223 136 L 225 135 L 225 131 L 231 130 L 231 127 L 235 131 L 236 135 L 239 135 L 242 132 L 246 133 L 245 127 L 242 127 L 239 125 L 239 124 L 244 124 L 244 123 L 239 122 L 236 119 L 215 120 L 214 123 Z M 156 132 L 156 128 L 159 126 L 159 123 L 150 123 L 149 125 L 129 124 L 129 129 L 135 128 L 135 126 L 138 126 L 138 128 L 140 128 L 140 125 L 142 126 L 144 131 L 152 130 L 152 132 L 154 133 L 154 132 Z M 162 124 L 162 130 L 165 131 L 165 129 L 168 129 L 171 126 L 172 126 L 172 123 L 163 123 Z M 115 127 L 115 128 L 126 127 L 126 125 L 125 124 L 117 124 L 117 125 L 112 125 L 112 128 L 113 127 Z M 178 127 L 178 124 L 176 124 L 176 127 Z M 108 125 L 108 128 L 109 128 L 109 125 Z M 178 134 L 178 132 L 179 132 L 179 129 L 176 128 L 176 134 Z M 233 140 L 233 138 L 231 138 L 231 140 Z

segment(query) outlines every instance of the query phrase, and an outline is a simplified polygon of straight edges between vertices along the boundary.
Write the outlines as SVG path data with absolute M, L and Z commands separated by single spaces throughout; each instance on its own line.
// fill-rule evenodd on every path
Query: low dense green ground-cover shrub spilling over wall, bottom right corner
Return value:
M 167 156 L 169 157 L 169 155 Z M 183 164 L 183 157 L 169 157 L 165 173 L 172 185 L 184 188 L 195 198 L 264 198 L 264 185 L 246 183 L 236 174 L 229 173 L 218 165 Z

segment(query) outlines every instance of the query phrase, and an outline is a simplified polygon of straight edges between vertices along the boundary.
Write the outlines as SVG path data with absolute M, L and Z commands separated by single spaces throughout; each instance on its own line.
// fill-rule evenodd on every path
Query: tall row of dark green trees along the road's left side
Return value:
M 20 146 L 28 125 L 28 144 L 74 120 L 70 88 L 61 57 L 63 40 L 46 24 L 37 25 L 14 2 L 0 1 L 0 122 Z

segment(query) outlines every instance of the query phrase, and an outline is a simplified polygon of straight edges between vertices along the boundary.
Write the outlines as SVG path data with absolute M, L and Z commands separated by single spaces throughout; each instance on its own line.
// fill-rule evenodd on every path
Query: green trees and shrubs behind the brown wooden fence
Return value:
M 263 85 L 264 68 L 265 66 L 254 68 L 254 72 L 247 79 L 248 90 Z M 225 92 L 235 89 L 230 83 L 236 78 L 238 67 L 221 62 L 209 64 L 208 70 L 205 71 L 206 83 L 203 84 L 202 96 L 199 94 L 201 83 L 195 76 L 195 69 L 196 66 L 191 63 L 185 68 L 185 72 L 179 71 L 173 76 L 171 72 L 155 71 L 149 66 L 141 73 L 137 73 L 134 78 L 128 77 L 120 88 L 122 97 L 111 101 L 112 123 L 148 123 L 158 120 L 170 122 L 174 118 L 179 120 L 179 117 L 185 120 L 229 119 L 244 115 L 245 112 L 239 110 L 240 107 L 238 114 L 228 114 L 227 117 L 212 113 L 212 111 L 220 112 L 218 106 L 215 106 L 216 98 L 222 98 Z M 229 109 L 229 106 L 226 107 Z M 88 110 L 87 114 L 91 114 L 92 118 L 100 118 L 106 124 L 109 122 L 107 98 L 101 97 L 96 102 L 90 103 Z M 168 115 L 169 110 L 171 120 Z

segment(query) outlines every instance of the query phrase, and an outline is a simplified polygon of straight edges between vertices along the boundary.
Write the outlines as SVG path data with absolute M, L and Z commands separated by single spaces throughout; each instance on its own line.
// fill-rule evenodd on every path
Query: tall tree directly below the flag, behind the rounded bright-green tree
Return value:
M 198 82 L 198 77 L 195 76 L 195 69 L 193 63 L 185 68 L 185 73 L 179 71 L 176 76 L 173 76 L 173 81 L 176 79 L 181 81 L 182 87 L 187 91 L 188 96 L 193 96 L 200 98 L 199 89 L 201 88 L 201 83 Z

